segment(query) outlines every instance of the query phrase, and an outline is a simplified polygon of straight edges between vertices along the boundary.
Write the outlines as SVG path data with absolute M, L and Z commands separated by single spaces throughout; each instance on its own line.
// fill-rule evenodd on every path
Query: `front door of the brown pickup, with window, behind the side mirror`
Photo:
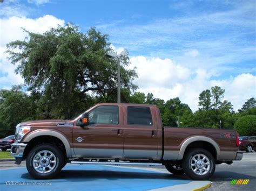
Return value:
M 76 157 L 122 158 L 124 142 L 123 112 L 118 105 L 99 105 L 89 112 L 89 125 L 73 127 Z

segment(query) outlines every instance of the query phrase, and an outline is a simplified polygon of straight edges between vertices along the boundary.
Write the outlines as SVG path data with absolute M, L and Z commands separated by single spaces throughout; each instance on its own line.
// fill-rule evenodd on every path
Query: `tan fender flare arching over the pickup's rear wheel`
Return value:
M 184 152 L 185 152 L 187 146 L 189 144 L 191 144 L 193 142 L 197 142 L 197 141 L 204 141 L 204 142 L 210 143 L 215 148 L 217 158 L 218 158 L 218 155 L 220 153 L 220 148 L 219 148 L 219 145 L 212 138 L 206 137 L 206 136 L 193 136 L 193 137 L 186 139 L 184 141 L 184 143 L 181 145 L 179 155 L 178 155 L 178 160 L 183 159 Z

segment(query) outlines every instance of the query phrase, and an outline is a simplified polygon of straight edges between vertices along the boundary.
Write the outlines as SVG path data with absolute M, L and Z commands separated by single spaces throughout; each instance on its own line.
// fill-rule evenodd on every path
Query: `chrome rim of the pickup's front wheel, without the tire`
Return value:
M 51 151 L 39 151 L 33 157 L 32 164 L 36 172 L 41 174 L 50 173 L 56 167 L 56 156 Z

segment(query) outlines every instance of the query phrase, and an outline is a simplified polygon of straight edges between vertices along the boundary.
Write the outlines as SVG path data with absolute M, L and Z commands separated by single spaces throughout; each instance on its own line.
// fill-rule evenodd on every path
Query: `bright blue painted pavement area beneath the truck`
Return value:
M 60 176 L 51 180 L 33 179 L 26 168 L 2 170 L 0 190 L 150 190 L 175 185 L 186 185 L 190 180 L 170 179 L 169 173 L 151 169 L 117 168 L 105 165 L 68 165 Z M 31 185 L 6 185 L 7 181 L 36 182 Z M 36 185 L 50 182 L 51 186 Z M 36 186 L 36 187 L 35 187 Z

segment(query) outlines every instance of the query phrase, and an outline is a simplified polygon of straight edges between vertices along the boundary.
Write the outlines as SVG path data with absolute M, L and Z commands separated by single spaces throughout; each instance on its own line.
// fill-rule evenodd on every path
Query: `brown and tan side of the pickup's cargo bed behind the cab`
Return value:
M 164 155 L 165 160 L 182 159 L 183 146 L 187 146 L 191 140 L 196 141 L 193 147 L 203 145 L 210 147 L 207 142 L 212 142 L 217 154 L 217 160 L 234 160 L 238 147 L 236 145 L 237 132 L 231 129 L 199 129 L 199 128 L 175 128 L 164 126 Z M 186 142 L 186 143 L 185 143 Z M 205 143 L 204 143 L 205 142 Z

